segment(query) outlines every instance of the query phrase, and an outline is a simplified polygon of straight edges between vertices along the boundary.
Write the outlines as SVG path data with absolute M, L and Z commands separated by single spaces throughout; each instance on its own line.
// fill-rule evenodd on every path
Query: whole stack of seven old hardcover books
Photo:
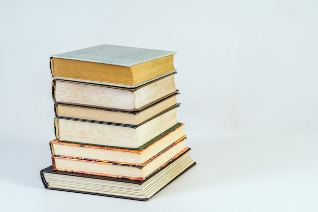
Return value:
M 45 188 L 147 200 L 196 164 L 176 117 L 174 54 L 100 45 L 50 58 Z

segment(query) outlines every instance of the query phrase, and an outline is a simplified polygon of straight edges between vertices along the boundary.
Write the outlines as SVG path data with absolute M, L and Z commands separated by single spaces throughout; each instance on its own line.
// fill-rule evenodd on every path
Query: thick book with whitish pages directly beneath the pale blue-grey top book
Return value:
M 121 111 L 142 110 L 177 92 L 174 74 L 136 88 L 121 88 L 56 79 L 52 81 L 54 102 Z

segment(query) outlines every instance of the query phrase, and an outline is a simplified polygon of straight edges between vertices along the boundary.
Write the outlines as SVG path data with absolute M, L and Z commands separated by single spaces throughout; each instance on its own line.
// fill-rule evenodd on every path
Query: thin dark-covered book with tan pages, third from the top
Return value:
M 85 107 L 74 104 L 54 104 L 56 117 L 94 120 L 100 122 L 117 123 L 123 125 L 141 125 L 154 117 L 177 107 L 177 95 L 175 93 L 162 99 L 140 111 L 119 111 L 97 107 Z

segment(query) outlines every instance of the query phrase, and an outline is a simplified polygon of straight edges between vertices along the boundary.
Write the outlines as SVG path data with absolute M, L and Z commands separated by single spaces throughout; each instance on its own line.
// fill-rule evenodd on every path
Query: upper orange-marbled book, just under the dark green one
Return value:
M 93 158 L 97 160 L 114 161 L 117 163 L 145 163 L 154 155 L 168 148 L 177 140 L 183 140 L 186 136 L 183 124 L 173 128 L 162 137 L 141 149 L 123 149 L 114 147 L 83 145 L 70 142 L 50 141 L 52 156 L 68 156 L 76 158 Z

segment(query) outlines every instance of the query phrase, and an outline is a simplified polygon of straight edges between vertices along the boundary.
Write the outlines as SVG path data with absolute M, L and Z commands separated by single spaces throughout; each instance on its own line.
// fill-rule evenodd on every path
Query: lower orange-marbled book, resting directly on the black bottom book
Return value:
M 76 158 L 71 156 L 52 156 L 52 163 L 54 169 L 59 171 L 143 181 L 153 172 L 164 167 L 171 160 L 174 160 L 187 150 L 188 148 L 185 146 L 184 140 L 177 140 L 168 148 L 157 153 L 144 163 L 124 163 L 91 158 Z

